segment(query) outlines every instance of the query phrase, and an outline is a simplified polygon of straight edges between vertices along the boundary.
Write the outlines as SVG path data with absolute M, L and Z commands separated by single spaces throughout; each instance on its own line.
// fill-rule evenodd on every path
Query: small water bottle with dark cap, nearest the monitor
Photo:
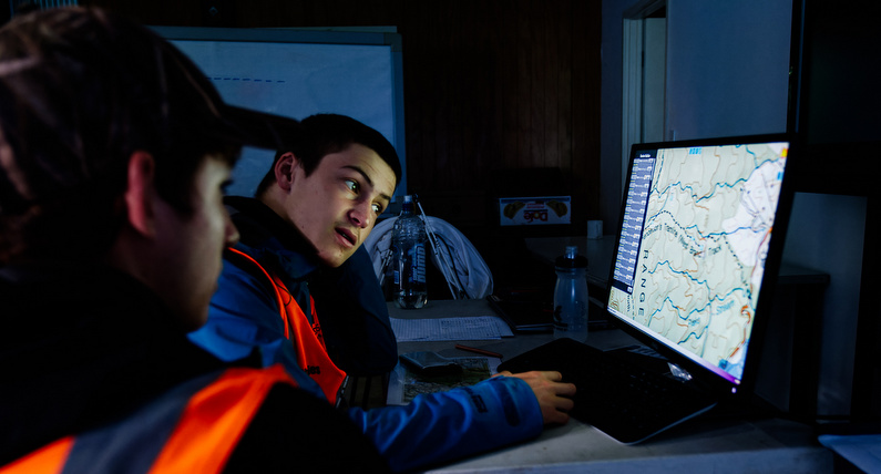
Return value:
M 587 341 L 587 258 L 578 247 L 567 246 L 557 257 L 554 288 L 554 339 Z

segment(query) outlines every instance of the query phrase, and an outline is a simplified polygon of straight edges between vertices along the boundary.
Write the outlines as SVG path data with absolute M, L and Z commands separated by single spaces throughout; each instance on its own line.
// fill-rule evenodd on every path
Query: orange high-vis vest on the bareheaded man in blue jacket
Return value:
M 336 403 L 339 389 L 346 380 L 346 372 L 338 368 L 327 353 L 327 347 L 321 337 L 321 324 L 318 322 L 313 297 L 309 296 L 309 312 L 313 317 L 313 322 L 309 323 L 306 313 L 278 276 L 267 271 L 249 255 L 234 248 L 228 250 L 256 266 L 259 272 L 272 284 L 281 320 L 285 321 L 285 338 L 289 339 L 294 344 L 297 362 L 303 371 L 308 373 L 321 387 L 327 400 L 330 403 Z

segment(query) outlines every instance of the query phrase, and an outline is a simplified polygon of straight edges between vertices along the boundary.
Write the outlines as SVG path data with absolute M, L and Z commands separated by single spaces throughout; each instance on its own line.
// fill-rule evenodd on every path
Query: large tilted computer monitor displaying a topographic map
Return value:
M 720 392 L 755 379 L 791 206 L 785 135 L 633 145 L 607 313 Z

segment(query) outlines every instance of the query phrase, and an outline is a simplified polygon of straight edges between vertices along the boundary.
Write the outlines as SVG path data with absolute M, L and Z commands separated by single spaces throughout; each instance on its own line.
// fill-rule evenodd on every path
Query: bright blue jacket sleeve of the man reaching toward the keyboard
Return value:
M 299 368 L 294 347 L 284 337 L 274 298 L 263 282 L 224 261 L 218 285 L 208 322 L 189 339 L 227 361 L 258 348 L 264 365 L 283 363 L 300 389 L 325 399 L 318 384 Z M 404 406 L 350 409 L 348 414 L 396 471 L 523 441 L 541 433 L 543 425 L 532 389 L 520 379 L 505 377 L 419 395 Z

